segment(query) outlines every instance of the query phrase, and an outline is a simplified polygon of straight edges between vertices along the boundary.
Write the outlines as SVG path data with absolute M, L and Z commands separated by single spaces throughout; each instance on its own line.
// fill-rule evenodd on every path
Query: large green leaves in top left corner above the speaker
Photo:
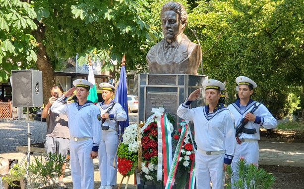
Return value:
M 31 31 L 37 26 L 31 4 L 20 0 L 0 0 L 0 82 L 6 82 L 11 70 L 34 67 L 38 46 Z

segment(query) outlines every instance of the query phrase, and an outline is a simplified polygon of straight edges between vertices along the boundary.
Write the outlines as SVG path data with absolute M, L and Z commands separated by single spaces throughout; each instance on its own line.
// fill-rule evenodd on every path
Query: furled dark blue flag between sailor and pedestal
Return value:
M 117 103 L 120 103 L 126 113 L 126 120 L 120 121 L 120 123 L 119 123 L 122 128 L 122 131 L 121 131 L 121 134 L 122 134 L 124 129 L 127 126 L 129 126 L 128 97 L 127 97 L 127 89 L 126 89 L 126 73 L 125 73 L 124 66 L 122 66 L 122 69 L 121 69 L 120 83 L 117 87 L 114 101 L 116 101 Z

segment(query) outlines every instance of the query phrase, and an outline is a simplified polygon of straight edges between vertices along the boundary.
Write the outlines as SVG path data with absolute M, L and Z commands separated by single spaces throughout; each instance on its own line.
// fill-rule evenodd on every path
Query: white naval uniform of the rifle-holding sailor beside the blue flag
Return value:
M 97 107 L 100 108 L 100 114 L 103 115 L 111 108 L 113 100 L 110 104 L 103 104 L 99 102 Z M 98 161 L 101 186 L 113 186 L 117 184 L 117 160 L 116 168 L 113 167 L 114 158 L 116 158 L 116 151 L 118 148 L 118 121 L 125 121 L 127 115 L 122 105 L 115 103 L 113 109 L 110 111 L 110 118 L 106 119 L 103 125 L 108 125 L 109 130 L 102 130 L 102 140 L 99 145 Z

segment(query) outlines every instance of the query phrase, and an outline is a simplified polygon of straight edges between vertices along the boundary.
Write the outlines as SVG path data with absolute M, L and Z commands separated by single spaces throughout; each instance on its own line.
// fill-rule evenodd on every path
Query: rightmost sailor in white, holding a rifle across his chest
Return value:
M 239 76 L 236 79 L 238 84 L 238 93 L 240 99 L 236 102 L 230 104 L 227 108 L 232 112 L 236 119 L 236 124 L 239 125 L 243 118 L 248 119 L 248 123 L 244 126 L 246 130 L 243 130 L 241 135 L 237 136 L 237 146 L 234 158 L 232 160 L 232 169 L 234 177 L 232 178 L 232 183 L 237 182 L 238 171 L 237 162 L 240 157 L 244 157 L 247 164 L 253 163 L 258 165 L 259 158 L 259 148 L 258 140 L 260 140 L 260 127 L 266 129 L 275 128 L 277 126 L 277 120 L 268 111 L 265 105 L 261 104 L 258 106 L 254 114 L 249 112 L 253 106 L 258 105 L 259 102 L 250 99 L 250 95 L 253 93 L 253 88 L 257 85 L 251 79 Z M 232 186 L 232 188 L 235 188 Z

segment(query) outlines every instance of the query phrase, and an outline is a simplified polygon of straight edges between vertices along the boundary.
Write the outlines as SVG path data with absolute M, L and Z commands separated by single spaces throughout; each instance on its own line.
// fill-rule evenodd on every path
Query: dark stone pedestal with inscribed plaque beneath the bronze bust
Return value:
M 206 76 L 188 74 L 140 74 L 138 81 L 138 121 L 145 121 L 153 107 L 164 107 L 166 113 L 175 117 L 175 129 L 181 121 L 176 115 L 179 105 L 198 88 Z M 204 105 L 204 92 L 191 103 L 191 108 Z

